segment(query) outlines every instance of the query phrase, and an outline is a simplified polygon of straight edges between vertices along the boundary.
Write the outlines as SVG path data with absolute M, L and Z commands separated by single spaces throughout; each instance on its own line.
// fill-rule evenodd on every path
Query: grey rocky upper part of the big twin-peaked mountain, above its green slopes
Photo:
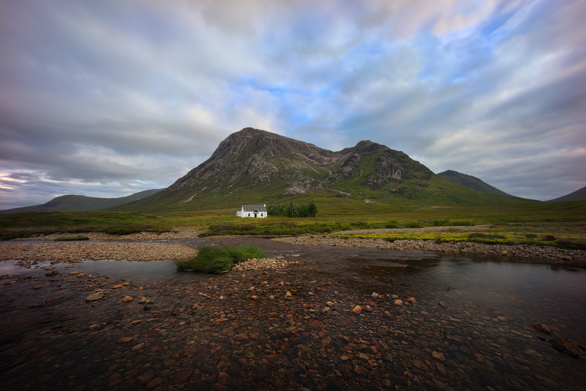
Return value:
M 379 189 L 415 174 L 423 179 L 433 175 L 403 152 L 370 140 L 333 152 L 248 127 L 226 137 L 209 159 L 169 186 L 168 192 L 234 192 L 270 183 L 291 195 L 340 181 L 362 181 Z

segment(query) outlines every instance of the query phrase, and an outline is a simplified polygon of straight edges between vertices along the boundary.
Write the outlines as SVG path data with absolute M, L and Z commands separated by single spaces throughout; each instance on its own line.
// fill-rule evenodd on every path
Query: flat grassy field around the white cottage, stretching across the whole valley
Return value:
M 340 199 L 342 200 L 342 199 Z M 347 201 L 347 200 L 343 200 Z M 377 209 L 376 204 L 360 205 L 362 209 L 335 209 L 335 206 L 318 203 L 318 217 L 291 219 L 241 219 L 236 207 L 200 212 L 142 215 L 135 212 L 19 212 L 0 215 L 0 238 L 29 237 L 54 232 L 81 233 L 99 231 L 125 234 L 150 231 L 171 231 L 186 228 L 208 229 L 216 234 L 302 234 L 333 233 L 342 230 L 371 228 L 403 228 L 421 226 L 479 225 L 499 223 L 544 223 L 555 232 L 563 227 L 576 227 L 583 233 L 579 222 L 586 222 L 586 201 L 536 203 L 529 205 L 488 206 L 437 206 L 413 205 L 401 210 Z M 338 210 L 338 213 L 335 213 Z M 379 210 L 379 212 L 376 212 Z M 534 226 L 540 227 L 539 225 Z M 524 229 L 520 227 L 519 229 Z M 560 232 L 565 234 L 566 232 Z M 558 234 L 560 234 L 558 233 Z

